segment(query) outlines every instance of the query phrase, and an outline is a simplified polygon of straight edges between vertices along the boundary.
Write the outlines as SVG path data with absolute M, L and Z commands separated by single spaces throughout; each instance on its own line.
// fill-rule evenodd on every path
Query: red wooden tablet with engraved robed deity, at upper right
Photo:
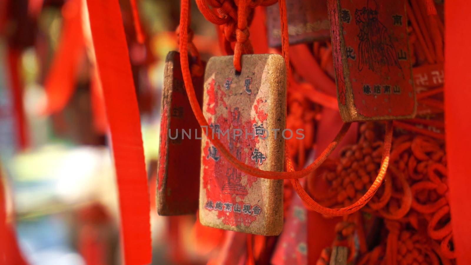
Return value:
M 414 117 L 405 0 L 329 0 L 329 18 L 343 121 Z

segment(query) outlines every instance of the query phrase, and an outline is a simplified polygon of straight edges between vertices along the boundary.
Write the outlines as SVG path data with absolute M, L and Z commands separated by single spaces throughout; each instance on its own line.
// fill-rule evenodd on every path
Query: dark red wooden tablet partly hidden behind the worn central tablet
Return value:
M 203 98 L 203 76 L 193 77 L 196 97 Z M 180 67 L 179 52 L 165 59 L 157 178 L 157 213 L 184 215 L 196 213 L 201 140 L 199 124 L 191 110 Z M 185 133 L 186 132 L 186 133 Z

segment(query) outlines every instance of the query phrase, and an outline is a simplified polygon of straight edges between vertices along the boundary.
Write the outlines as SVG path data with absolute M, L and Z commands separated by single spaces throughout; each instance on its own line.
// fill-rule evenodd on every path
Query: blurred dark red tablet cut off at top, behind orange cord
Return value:
M 268 45 L 281 46 L 280 9 L 266 8 Z M 322 0 L 286 0 L 290 44 L 330 39 L 327 3 Z

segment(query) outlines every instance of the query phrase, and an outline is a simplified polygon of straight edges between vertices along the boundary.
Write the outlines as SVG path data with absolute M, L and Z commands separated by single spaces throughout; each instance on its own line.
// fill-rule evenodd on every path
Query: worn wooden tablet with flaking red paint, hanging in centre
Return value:
M 233 56 L 213 57 L 204 75 L 203 113 L 214 135 L 203 135 L 199 217 L 203 225 L 261 235 L 283 227 L 283 181 L 235 169 L 209 137 L 239 161 L 282 171 L 286 111 L 286 70 L 276 54 L 242 56 L 236 73 Z M 204 130 L 204 128 L 203 128 Z

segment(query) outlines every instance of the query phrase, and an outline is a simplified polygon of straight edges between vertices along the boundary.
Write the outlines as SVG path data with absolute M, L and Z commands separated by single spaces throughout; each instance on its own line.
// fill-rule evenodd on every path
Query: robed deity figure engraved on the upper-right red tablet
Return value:
M 368 0 L 366 7 L 355 10 L 355 22 L 360 28 L 357 37 L 358 44 L 358 70 L 367 66 L 373 72 L 381 74 L 383 66 L 399 65 L 396 50 L 388 34 L 388 29 L 378 20 L 378 3 Z

